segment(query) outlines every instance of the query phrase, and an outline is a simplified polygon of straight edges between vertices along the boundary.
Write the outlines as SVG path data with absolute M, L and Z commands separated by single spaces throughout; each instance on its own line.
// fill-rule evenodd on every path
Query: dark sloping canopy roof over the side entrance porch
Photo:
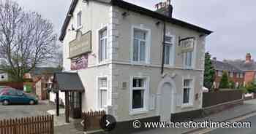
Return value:
M 53 83 L 58 85 L 56 90 L 79 92 L 85 90 L 78 73 L 56 73 L 54 74 Z

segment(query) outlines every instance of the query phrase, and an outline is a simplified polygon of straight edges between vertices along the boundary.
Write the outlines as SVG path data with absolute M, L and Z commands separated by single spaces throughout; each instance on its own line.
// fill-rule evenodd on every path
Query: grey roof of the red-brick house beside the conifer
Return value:
M 211 63 L 213 63 L 214 69 L 218 70 L 218 71 L 230 71 L 230 72 L 243 73 L 243 71 L 241 69 L 239 69 L 236 66 L 233 66 L 227 62 L 211 60 Z

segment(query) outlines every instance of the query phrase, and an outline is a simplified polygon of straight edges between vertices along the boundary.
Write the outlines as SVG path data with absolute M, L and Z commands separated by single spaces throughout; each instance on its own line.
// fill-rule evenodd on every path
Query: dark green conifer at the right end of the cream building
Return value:
M 203 86 L 211 89 L 214 83 L 214 66 L 211 63 L 211 55 L 209 52 L 206 52 L 205 55 L 205 71 L 204 71 L 204 79 Z

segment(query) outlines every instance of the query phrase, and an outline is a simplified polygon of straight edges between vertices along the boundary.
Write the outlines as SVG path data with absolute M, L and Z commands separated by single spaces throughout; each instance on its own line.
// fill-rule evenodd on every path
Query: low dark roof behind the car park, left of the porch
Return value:
M 61 72 L 61 68 L 37 67 L 30 71 L 31 75 L 54 74 Z

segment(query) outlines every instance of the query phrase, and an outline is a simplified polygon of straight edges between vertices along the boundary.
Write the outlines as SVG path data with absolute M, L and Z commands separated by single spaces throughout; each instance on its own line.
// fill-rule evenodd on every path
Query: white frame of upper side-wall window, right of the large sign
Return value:
M 102 31 L 107 31 L 107 35 L 103 38 L 103 39 L 106 39 L 107 40 L 107 44 L 105 44 L 106 46 L 105 46 L 105 55 L 106 55 L 106 57 L 105 58 L 102 58 L 102 60 L 100 60 L 100 41 L 101 41 L 101 38 L 100 38 L 100 33 L 102 32 Z M 97 55 L 97 63 L 105 63 L 106 62 L 106 60 L 108 60 L 108 58 L 109 58 L 109 50 L 108 50 L 108 46 L 109 46 L 109 38 L 108 38 L 108 36 L 109 36 L 109 34 L 108 34 L 108 25 L 105 25 L 105 26 L 103 26 L 102 28 L 100 28 L 98 31 L 97 31 L 97 47 L 98 47 L 98 55 Z

